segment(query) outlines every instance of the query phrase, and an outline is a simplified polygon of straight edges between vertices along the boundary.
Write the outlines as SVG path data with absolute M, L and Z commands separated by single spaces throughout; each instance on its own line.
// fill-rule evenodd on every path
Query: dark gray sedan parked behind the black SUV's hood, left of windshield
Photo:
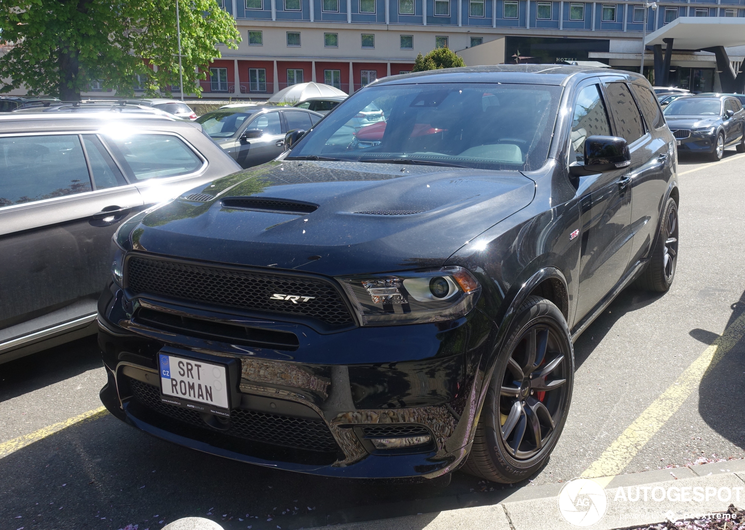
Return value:
M 312 110 L 246 105 L 213 110 L 196 122 L 242 168 L 250 168 L 279 157 L 285 133 L 308 130 L 321 118 Z

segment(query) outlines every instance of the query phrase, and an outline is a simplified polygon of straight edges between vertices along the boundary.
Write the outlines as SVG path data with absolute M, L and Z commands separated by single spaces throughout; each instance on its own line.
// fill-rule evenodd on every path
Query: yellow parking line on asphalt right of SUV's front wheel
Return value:
M 691 363 L 678 379 L 660 397 L 653 401 L 634 420 L 621 436 L 603 451 L 592 465 L 582 473 L 584 477 L 618 475 L 627 467 L 635 455 L 647 444 L 665 422 L 678 411 L 683 402 L 722 357 L 745 335 L 745 313 L 724 330 L 701 356 Z

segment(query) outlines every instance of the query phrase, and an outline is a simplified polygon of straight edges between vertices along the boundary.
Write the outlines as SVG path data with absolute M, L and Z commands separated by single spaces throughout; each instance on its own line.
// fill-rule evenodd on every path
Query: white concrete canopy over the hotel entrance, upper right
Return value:
M 724 16 L 681 16 L 647 35 L 647 45 L 674 39 L 677 50 L 700 50 L 714 46 L 745 44 L 745 18 Z

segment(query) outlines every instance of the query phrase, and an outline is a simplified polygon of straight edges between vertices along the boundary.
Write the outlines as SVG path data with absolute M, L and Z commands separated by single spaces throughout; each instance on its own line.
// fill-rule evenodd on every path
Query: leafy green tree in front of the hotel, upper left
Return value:
M 220 57 L 215 44 L 237 48 L 241 37 L 216 0 L 179 7 L 188 92 Z M 125 97 L 135 85 L 151 96 L 159 88 L 170 95 L 179 84 L 175 0 L 2 0 L 0 44 L 13 45 L 0 59 L 0 79 L 7 81 L 0 92 L 25 86 L 30 94 L 78 100 L 92 81 Z

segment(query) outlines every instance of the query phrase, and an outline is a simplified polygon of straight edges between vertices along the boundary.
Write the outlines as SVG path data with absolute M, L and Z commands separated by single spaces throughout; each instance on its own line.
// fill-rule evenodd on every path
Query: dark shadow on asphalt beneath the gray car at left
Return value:
M 0 403 L 103 366 L 96 335 L 0 365 Z

